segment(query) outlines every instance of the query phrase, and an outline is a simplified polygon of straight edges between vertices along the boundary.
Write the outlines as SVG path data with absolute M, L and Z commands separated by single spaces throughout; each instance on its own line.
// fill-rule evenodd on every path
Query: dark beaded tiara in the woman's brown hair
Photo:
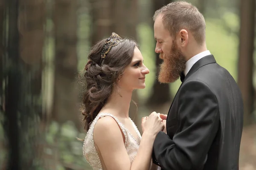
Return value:
M 108 37 L 108 39 L 105 41 L 105 45 L 100 54 L 100 56 L 101 56 L 101 60 L 99 62 L 100 65 L 104 62 L 105 57 L 108 54 L 108 52 L 111 50 L 111 48 L 118 45 L 120 42 L 122 42 L 122 40 L 123 39 L 118 34 L 116 34 L 114 32 L 112 33 L 112 35 L 110 37 Z

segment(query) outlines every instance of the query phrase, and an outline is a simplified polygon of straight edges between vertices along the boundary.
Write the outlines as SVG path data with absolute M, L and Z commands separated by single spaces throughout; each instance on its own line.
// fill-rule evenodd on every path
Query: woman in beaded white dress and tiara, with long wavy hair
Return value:
M 132 91 L 145 88 L 149 73 L 136 43 L 112 33 L 92 48 L 88 59 L 82 108 L 85 159 L 94 170 L 156 170 L 151 154 L 164 128 L 159 113 L 143 118 L 142 136 L 128 115 Z

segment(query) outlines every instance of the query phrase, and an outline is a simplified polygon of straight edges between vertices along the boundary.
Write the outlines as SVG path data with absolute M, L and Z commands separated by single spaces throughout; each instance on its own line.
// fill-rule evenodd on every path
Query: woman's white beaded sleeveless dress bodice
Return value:
M 92 124 L 90 125 L 89 130 L 87 131 L 87 134 L 84 139 L 84 146 L 83 146 L 83 154 L 87 162 L 90 164 L 91 167 L 93 167 L 93 170 L 102 170 L 102 164 L 99 159 L 99 155 L 96 151 L 95 145 L 94 145 L 94 139 L 93 139 L 93 130 L 96 125 L 96 122 L 104 117 L 104 116 L 111 116 L 113 119 L 116 120 L 119 127 L 122 129 L 122 133 L 125 136 L 125 149 L 128 153 L 128 156 L 130 158 L 131 163 L 134 161 L 135 156 L 137 155 L 137 151 L 139 149 L 140 141 L 137 142 L 137 140 L 134 138 L 134 136 L 131 135 L 131 133 L 125 128 L 125 126 L 119 122 L 119 120 L 111 115 L 110 113 L 99 113 L 96 118 L 93 120 Z M 131 119 L 130 119 L 131 120 Z M 139 130 L 137 129 L 134 122 L 131 120 L 132 125 L 137 133 L 137 136 L 139 140 L 141 140 L 141 135 Z

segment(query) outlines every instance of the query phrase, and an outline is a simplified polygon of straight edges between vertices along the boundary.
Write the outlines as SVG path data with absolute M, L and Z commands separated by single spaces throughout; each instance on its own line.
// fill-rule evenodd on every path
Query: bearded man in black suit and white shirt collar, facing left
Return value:
M 162 170 L 238 170 L 243 101 L 207 50 L 203 15 L 190 3 L 169 3 L 154 14 L 154 37 L 163 59 L 159 81 L 182 82 L 168 116 L 161 115 L 167 134 L 157 134 L 154 163 Z

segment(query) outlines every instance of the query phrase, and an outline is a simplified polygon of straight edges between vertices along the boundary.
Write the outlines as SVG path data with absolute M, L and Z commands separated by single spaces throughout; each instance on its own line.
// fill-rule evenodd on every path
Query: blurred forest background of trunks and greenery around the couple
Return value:
M 170 0 L 0 0 L 0 170 L 92 170 L 82 155 L 79 71 L 90 47 L 116 32 L 150 69 L 130 117 L 167 113 L 180 81 L 157 82 L 152 16 Z M 256 170 L 255 0 L 187 0 L 204 14 L 207 48 L 241 88 L 240 170 Z M 141 132 L 141 129 L 140 129 Z

